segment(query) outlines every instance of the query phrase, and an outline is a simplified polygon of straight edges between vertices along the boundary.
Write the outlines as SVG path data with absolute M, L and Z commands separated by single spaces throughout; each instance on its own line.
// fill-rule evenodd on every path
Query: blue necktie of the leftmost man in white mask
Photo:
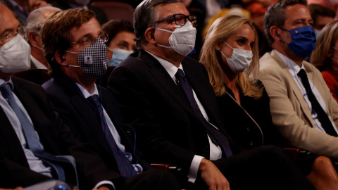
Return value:
M 34 126 L 30 122 L 30 120 L 28 120 L 25 113 L 23 113 L 23 110 L 19 108 L 18 104 L 14 99 L 11 84 L 6 83 L 1 85 L 0 91 L 2 96 L 4 96 L 4 98 L 8 101 L 9 105 L 12 107 L 15 115 L 20 120 L 21 127 L 23 128 L 23 134 L 25 135 L 25 139 L 27 141 L 28 147 L 30 148 L 30 151 L 32 151 L 32 153 L 34 153 L 34 155 L 37 156 L 38 158 L 44 160 L 45 163 L 51 165 L 51 167 L 53 167 L 53 169 L 56 171 L 58 179 L 63 182 L 65 182 L 65 172 L 63 171 L 63 168 L 59 164 L 69 163 L 73 165 L 77 180 L 75 159 L 73 158 L 73 156 L 54 156 L 41 148 L 41 146 L 39 145 L 39 141 L 37 140 L 39 138 L 37 137 Z

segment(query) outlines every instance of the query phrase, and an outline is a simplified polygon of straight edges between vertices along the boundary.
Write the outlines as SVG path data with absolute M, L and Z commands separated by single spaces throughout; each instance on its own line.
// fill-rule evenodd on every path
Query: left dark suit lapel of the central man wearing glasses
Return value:
M 177 87 L 173 78 L 170 77 L 170 75 L 165 70 L 165 68 L 163 68 L 161 63 L 159 63 L 156 58 L 151 56 L 149 53 L 146 53 L 145 51 L 140 52 L 140 58 L 146 61 L 145 63 L 150 66 L 149 72 L 151 72 L 151 75 L 154 76 L 154 78 L 158 81 L 161 87 L 163 87 L 163 89 L 165 89 L 165 91 L 167 91 L 168 94 L 170 94 L 170 96 L 172 96 L 173 99 L 182 106 L 182 108 L 187 110 L 188 113 L 194 115 L 194 117 L 196 118 L 194 110 L 192 110 L 192 106 L 190 106 L 189 101 L 182 93 L 182 91 L 180 91 L 180 88 Z

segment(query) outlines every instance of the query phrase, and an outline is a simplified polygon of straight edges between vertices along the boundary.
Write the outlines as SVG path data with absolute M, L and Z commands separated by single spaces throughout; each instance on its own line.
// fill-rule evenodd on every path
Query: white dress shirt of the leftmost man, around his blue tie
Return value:
M 5 82 L 4 80 L 0 79 L 0 85 L 5 84 L 5 83 L 11 83 L 12 86 L 13 86 L 11 78 L 8 80 L 8 82 Z M 30 122 L 32 123 L 32 120 L 30 119 L 30 115 L 28 115 L 27 111 L 23 107 L 23 104 L 18 99 L 18 97 L 14 94 L 14 92 L 13 92 L 13 96 L 14 96 L 14 99 L 15 99 L 16 103 L 18 104 L 19 108 L 21 110 L 23 110 L 23 113 L 25 113 L 25 115 L 28 118 L 28 120 L 30 120 Z M 2 96 L 2 94 L 0 96 L 0 106 L 4 110 L 4 113 L 6 114 L 9 122 L 11 122 L 11 125 L 12 125 L 12 127 L 13 127 L 16 135 L 18 136 L 20 144 L 21 144 L 21 146 L 23 148 L 23 152 L 25 153 L 25 156 L 27 158 L 28 165 L 30 166 L 30 170 L 33 170 L 33 171 L 35 171 L 37 173 L 40 173 L 42 175 L 47 175 L 47 176 L 51 177 L 51 167 L 46 167 L 42 163 L 42 160 L 40 160 L 39 158 L 37 158 L 32 153 L 32 151 L 30 151 L 30 149 L 28 149 L 26 147 L 27 144 L 26 144 L 25 136 L 23 134 L 23 128 L 21 127 L 20 120 L 18 119 L 18 116 L 16 116 L 16 114 L 15 114 L 14 110 L 12 109 L 12 107 L 9 105 L 8 101 L 6 101 L 6 99 L 4 99 L 4 96 Z M 35 133 L 37 133 L 37 132 L 35 132 Z M 39 138 L 38 134 L 37 134 L 37 138 Z M 40 146 L 43 149 L 42 144 L 40 144 Z

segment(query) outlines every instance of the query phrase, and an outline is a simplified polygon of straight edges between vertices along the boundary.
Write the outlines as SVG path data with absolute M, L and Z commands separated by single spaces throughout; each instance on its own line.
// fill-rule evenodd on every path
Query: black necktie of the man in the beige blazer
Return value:
M 306 94 L 308 95 L 308 99 L 311 102 L 313 110 L 315 110 L 315 113 L 317 113 L 318 120 L 322 124 L 323 129 L 325 130 L 327 134 L 337 137 L 338 134 L 334 130 L 334 127 L 332 125 L 332 122 L 330 121 L 330 118 L 327 116 L 322 106 L 320 106 L 320 103 L 317 101 L 317 99 L 315 98 L 315 95 L 312 92 L 310 83 L 308 82 L 308 76 L 306 75 L 306 71 L 301 69 L 297 75 L 301 77 L 301 83 L 303 83 L 303 86 L 306 89 Z

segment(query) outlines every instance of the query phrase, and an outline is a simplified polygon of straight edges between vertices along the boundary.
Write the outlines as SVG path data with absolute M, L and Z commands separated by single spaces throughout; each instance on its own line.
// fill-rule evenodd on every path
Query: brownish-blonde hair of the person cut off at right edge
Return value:
M 331 67 L 332 59 L 328 56 L 338 39 L 338 20 L 327 24 L 320 32 L 315 50 L 311 55 L 311 63 L 319 70 L 326 70 Z

